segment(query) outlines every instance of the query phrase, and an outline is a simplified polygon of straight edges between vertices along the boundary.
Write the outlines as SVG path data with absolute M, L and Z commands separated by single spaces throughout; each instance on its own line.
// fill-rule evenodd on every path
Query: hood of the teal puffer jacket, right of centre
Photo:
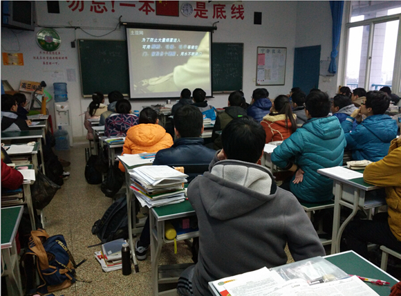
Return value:
M 335 116 L 310 118 L 302 127 L 323 140 L 338 138 L 342 133 L 341 124 Z

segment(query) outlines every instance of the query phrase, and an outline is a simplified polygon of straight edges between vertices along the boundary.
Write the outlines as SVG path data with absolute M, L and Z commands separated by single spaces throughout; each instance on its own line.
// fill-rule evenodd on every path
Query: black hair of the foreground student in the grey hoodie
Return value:
M 247 163 L 257 163 L 265 147 L 265 140 L 265 129 L 249 116 L 231 120 L 221 133 L 227 158 Z

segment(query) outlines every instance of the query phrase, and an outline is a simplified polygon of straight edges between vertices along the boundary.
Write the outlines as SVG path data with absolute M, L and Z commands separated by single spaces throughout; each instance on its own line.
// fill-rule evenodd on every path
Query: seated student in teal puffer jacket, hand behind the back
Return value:
M 327 116 L 330 105 L 327 93 L 310 93 L 305 102 L 308 120 L 272 153 L 274 165 L 297 171 L 281 187 L 301 201 L 317 203 L 333 198 L 333 181 L 317 172 L 317 169 L 342 165 L 346 146 L 339 121 Z

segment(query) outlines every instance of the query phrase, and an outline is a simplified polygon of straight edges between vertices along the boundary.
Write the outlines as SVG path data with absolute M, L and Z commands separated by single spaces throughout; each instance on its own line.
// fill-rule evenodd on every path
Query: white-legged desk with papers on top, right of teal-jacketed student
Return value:
M 332 168 L 335 169 L 335 168 Z M 384 198 L 371 198 L 366 197 L 366 192 L 379 189 L 379 187 L 364 182 L 364 178 L 355 178 L 346 180 L 342 176 L 330 174 L 330 172 L 323 172 L 318 169 L 317 172 L 330 179 L 333 179 L 333 194 L 334 194 L 334 219 L 333 219 L 333 236 L 331 243 L 331 254 L 339 252 L 339 243 L 341 240 L 342 232 L 346 225 L 353 219 L 357 211 L 362 209 L 371 209 L 386 205 Z M 339 227 L 341 216 L 341 205 L 349 207 L 352 212 L 346 218 L 341 227 Z

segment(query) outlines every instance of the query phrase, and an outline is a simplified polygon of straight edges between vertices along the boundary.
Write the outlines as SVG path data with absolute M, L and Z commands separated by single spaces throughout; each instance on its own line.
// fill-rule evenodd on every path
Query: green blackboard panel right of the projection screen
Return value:
M 213 43 L 213 92 L 242 89 L 242 77 L 243 43 Z

